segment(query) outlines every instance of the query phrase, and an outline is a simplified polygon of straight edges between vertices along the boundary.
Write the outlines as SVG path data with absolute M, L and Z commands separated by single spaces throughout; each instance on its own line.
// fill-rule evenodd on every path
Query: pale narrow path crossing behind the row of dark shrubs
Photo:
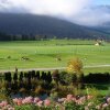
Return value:
M 94 66 L 84 66 L 84 68 L 94 68 L 94 67 L 110 67 L 110 64 L 108 65 L 94 65 Z M 21 68 L 18 69 L 19 72 L 29 72 L 29 70 L 55 70 L 55 69 L 65 69 L 66 67 L 53 67 L 53 68 Z M 6 69 L 6 70 L 0 70 L 0 73 L 6 73 L 6 72 L 14 72 L 15 69 Z

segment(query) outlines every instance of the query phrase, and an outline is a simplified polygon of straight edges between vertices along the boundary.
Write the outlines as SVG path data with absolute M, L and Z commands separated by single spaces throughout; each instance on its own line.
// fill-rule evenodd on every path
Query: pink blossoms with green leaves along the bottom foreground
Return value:
M 12 102 L 1 101 L 0 110 L 110 110 L 110 97 L 67 95 L 56 101 L 38 97 L 15 98 Z

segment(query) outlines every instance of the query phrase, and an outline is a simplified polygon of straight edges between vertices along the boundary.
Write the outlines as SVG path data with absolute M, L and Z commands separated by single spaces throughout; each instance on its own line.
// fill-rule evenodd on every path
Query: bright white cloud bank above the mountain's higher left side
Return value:
M 29 12 L 35 14 L 64 16 L 75 14 L 89 3 L 89 0 L 0 0 L 6 11 Z

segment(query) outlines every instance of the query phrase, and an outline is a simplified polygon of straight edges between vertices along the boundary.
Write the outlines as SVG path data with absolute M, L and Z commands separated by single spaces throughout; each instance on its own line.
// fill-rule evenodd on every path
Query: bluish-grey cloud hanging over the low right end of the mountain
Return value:
M 102 25 L 110 22 L 110 7 L 97 6 L 84 9 L 80 13 L 74 16 L 73 21 L 82 25 Z

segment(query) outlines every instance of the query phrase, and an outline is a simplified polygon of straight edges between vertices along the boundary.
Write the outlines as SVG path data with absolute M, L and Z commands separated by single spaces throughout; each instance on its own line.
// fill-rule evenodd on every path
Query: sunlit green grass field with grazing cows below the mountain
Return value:
M 70 58 L 80 57 L 84 66 L 110 64 L 110 44 L 95 46 L 95 41 L 51 40 L 0 42 L 0 70 L 18 68 L 66 67 Z M 10 58 L 8 58 L 10 56 Z M 29 59 L 21 59 L 22 57 Z M 61 57 L 62 61 L 56 61 Z M 110 67 L 86 68 L 110 72 Z

